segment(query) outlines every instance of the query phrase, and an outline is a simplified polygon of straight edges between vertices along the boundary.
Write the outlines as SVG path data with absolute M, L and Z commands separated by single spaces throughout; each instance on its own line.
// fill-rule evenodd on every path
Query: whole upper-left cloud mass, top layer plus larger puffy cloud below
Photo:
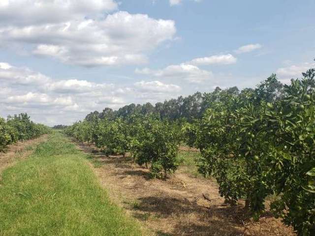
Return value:
M 23 9 L 23 11 L 21 11 Z M 0 5 L 3 47 L 82 66 L 143 64 L 173 40 L 175 22 L 116 11 L 113 0 L 10 0 Z

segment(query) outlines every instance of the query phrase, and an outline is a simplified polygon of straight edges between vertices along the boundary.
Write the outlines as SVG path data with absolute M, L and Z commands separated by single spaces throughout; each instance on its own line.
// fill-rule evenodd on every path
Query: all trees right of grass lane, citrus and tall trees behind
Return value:
M 200 149 L 199 171 L 258 219 L 265 200 L 299 236 L 315 235 L 315 69 L 290 85 L 272 75 L 255 89 L 217 88 L 164 103 L 104 109 L 68 127 L 108 154 L 130 152 L 153 176 L 178 166 L 181 142 Z M 185 101 L 185 102 L 184 102 Z M 147 109 L 150 108 L 150 109 Z

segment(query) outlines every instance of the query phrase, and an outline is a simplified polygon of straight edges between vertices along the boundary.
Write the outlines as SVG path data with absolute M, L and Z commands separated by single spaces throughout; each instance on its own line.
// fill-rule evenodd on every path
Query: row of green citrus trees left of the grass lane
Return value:
M 10 144 L 37 138 L 49 131 L 48 126 L 34 123 L 26 113 L 8 116 L 6 120 L 0 118 L 0 152 L 5 151 Z

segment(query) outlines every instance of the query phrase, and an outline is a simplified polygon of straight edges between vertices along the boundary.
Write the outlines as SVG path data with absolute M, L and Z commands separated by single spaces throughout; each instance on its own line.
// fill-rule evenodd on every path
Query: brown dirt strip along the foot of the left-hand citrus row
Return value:
M 13 165 L 17 159 L 26 158 L 33 152 L 33 146 L 47 140 L 48 135 L 42 135 L 37 139 L 17 142 L 16 144 L 8 146 L 6 152 L 0 152 L 0 173 L 1 171 Z

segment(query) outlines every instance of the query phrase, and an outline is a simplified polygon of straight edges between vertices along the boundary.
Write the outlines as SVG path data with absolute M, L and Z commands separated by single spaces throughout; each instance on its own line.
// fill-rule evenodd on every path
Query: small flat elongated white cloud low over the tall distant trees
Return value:
M 144 91 L 153 91 L 153 92 L 178 92 L 181 90 L 181 87 L 172 84 L 164 84 L 160 81 L 140 81 L 136 82 L 135 87 Z

